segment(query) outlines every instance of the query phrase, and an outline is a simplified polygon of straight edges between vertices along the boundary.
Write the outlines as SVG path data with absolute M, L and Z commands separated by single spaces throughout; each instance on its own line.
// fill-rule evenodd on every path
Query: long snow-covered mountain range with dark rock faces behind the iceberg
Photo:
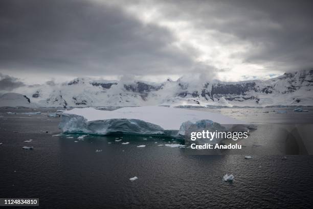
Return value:
M 162 83 L 77 78 L 60 84 L 20 87 L 15 92 L 42 107 L 310 106 L 313 105 L 313 69 L 285 73 L 266 81 L 242 82 L 209 82 L 186 77 Z

